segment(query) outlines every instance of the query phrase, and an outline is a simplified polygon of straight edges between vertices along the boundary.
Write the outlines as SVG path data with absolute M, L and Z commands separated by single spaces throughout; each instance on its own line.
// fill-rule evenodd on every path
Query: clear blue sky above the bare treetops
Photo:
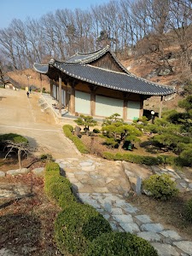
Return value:
M 13 19 L 38 19 L 56 9 L 90 9 L 110 0 L 0 0 L 0 29 L 7 28 Z

